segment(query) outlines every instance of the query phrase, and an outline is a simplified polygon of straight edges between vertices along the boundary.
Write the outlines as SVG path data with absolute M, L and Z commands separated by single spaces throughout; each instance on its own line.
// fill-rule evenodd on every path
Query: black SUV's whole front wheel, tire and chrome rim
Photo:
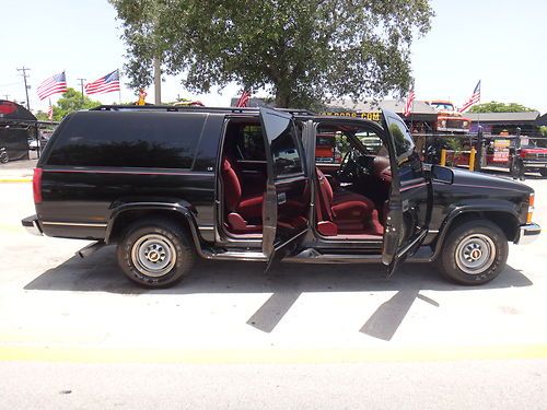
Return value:
M 490 221 L 473 220 L 457 226 L 446 238 L 438 265 L 444 277 L 477 285 L 491 281 L 505 267 L 505 234 Z

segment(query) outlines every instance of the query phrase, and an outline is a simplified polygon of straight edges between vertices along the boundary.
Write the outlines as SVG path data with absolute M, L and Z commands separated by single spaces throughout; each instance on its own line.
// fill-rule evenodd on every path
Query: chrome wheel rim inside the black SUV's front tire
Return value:
M 456 247 L 456 265 L 467 274 L 479 274 L 488 270 L 496 258 L 493 241 L 484 234 L 470 234 Z

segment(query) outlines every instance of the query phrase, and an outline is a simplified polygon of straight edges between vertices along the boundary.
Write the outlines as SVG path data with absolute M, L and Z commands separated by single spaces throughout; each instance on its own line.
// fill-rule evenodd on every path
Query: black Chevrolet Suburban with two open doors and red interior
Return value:
M 334 161 L 316 161 L 321 138 Z M 324 154 L 323 154 L 324 155 Z M 496 278 L 508 242 L 539 234 L 534 191 L 422 164 L 401 119 L 303 110 L 101 106 L 69 115 L 34 172 L 38 234 L 117 245 L 131 281 L 173 285 L 197 257 L 318 263 L 435 261 Z

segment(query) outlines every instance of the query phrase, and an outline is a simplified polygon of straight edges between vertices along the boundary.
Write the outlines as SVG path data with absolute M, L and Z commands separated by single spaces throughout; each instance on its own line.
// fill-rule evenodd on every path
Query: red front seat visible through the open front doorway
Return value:
M 317 178 L 321 190 L 318 192 L 321 215 L 318 215 L 317 230 L 321 234 L 336 236 L 379 230 L 374 223 L 377 221 L 374 202 L 359 194 L 345 190 L 333 191 L 330 183 L 319 169 L 317 169 Z

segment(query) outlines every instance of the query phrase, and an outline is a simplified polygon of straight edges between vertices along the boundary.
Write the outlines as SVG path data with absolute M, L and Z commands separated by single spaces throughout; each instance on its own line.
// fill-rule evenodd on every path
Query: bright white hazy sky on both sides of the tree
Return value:
M 434 0 L 432 30 L 412 45 L 412 74 L 418 99 L 466 99 L 482 80 L 482 102 L 516 102 L 547 112 L 547 1 Z M 24 86 L 16 68 L 30 67 L 31 108 L 47 105 L 36 86 L 66 70 L 69 86 L 77 79 L 95 80 L 123 68 L 125 46 L 116 13 L 106 0 L 0 0 L 0 98 L 23 101 Z M 177 95 L 206 105 L 228 105 L 237 92 L 193 95 L 179 79 L 166 77 L 163 101 Z M 57 97 L 54 97 L 54 101 Z M 98 96 L 117 102 L 117 93 Z M 133 99 L 125 89 L 123 101 Z M 153 99 L 153 90 L 149 90 Z

